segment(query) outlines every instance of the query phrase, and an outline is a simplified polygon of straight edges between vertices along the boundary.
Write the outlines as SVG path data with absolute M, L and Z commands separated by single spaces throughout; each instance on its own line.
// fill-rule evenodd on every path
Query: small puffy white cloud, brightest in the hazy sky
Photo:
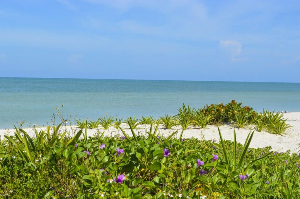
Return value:
M 227 40 L 227 41 L 220 41 L 219 45 L 220 48 L 229 55 L 231 61 L 238 60 L 237 56 L 239 56 L 242 51 L 242 44 L 240 42 Z

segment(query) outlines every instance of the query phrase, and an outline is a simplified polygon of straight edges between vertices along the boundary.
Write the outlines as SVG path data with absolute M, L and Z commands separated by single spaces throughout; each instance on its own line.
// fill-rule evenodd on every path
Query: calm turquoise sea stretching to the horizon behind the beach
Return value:
M 23 120 L 46 125 L 56 107 L 66 119 L 158 118 L 175 115 L 182 103 L 200 108 L 232 99 L 257 111 L 297 112 L 300 83 L 0 78 L 0 128 Z

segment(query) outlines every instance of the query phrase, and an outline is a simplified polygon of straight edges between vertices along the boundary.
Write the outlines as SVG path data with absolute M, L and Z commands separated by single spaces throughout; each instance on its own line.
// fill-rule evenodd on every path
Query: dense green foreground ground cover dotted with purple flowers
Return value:
M 68 137 L 21 128 L 0 145 L 3 198 L 299 198 L 298 154 L 157 135 Z M 80 135 L 84 139 L 80 139 Z M 234 132 L 235 140 L 235 132 Z

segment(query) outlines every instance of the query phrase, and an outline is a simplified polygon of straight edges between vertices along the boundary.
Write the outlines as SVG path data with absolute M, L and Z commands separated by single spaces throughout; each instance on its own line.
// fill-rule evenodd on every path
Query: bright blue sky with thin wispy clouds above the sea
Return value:
M 0 77 L 300 82 L 300 1 L 1 0 Z

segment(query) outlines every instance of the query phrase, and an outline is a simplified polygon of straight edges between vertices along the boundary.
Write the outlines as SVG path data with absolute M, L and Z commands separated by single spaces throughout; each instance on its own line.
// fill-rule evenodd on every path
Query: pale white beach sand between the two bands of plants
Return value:
M 263 148 L 270 146 L 272 151 L 277 152 L 286 152 L 287 150 L 291 150 L 291 153 L 298 153 L 300 151 L 300 112 L 292 112 L 292 113 L 283 113 L 283 117 L 287 119 L 286 123 L 291 125 L 286 132 L 281 135 L 275 135 L 267 132 L 257 132 L 254 131 L 253 139 L 250 144 L 251 148 Z M 128 128 L 126 124 L 121 124 L 125 133 L 129 136 L 132 136 L 131 130 Z M 145 131 L 149 131 L 150 125 L 139 125 L 139 128 L 135 130 L 136 134 L 146 135 Z M 36 127 L 37 130 L 45 130 L 45 127 Z M 34 137 L 35 133 L 33 128 L 23 128 L 26 132 L 29 133 L 30 136 Z M 153 131 L 155 126 L 153 126 Z M 70 133 L 70 136 L 73 136 L 79 129 L 74 126 L 64 126 L 61 127 L 61 132 L 67 130 Z M 173 129 L 164 129 L 162 125 L 159 126 L 157 135 L 160 136 L 168 136 L 173 131 L 178 130 L 176 137 L 179 137 L 181 133 L 181 127 L 175 127 Z M 220 131 L 222 133 L 222 137 L 224 140 L 233 141 L 233 130 L 236 132 L 236 140 L 244 144 L 247 135 L 250 131 L 253 131 L 253 126 L 246 126 L 245 128 L 238 129 L 232 127 L 231 124 L 225 124 L 220 126 Z M 83 130 L 84 131 L 84 130 Z M 103 129 L 88 129 L 88 136 L 93 136 L 97 134 L 97 132 L 103 132 Z M 1 129 L 0 130 L 0 139 L 4 139 L 4 135 L 14 135 L 14 129 Z M 122 136 L 121 130 L 116 130 L 111 127 L 108 130 L 105 130 L 104 136 Z M 219 142 L 220 137 L 218 133 L 217 126 L 209 125 L 205 130 L 199 129 L 199 127 L 190 127 L 187 130 L 184 130 L 182 138 L 198 138 L 204 140 L 216 140 Z

